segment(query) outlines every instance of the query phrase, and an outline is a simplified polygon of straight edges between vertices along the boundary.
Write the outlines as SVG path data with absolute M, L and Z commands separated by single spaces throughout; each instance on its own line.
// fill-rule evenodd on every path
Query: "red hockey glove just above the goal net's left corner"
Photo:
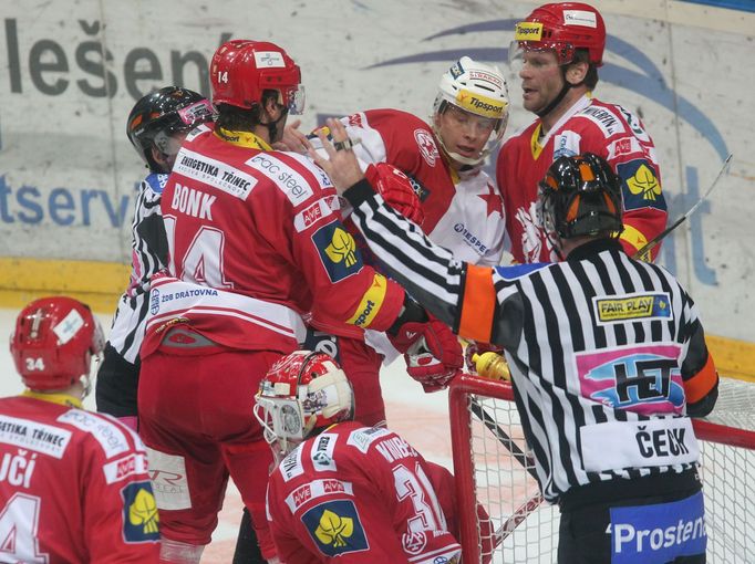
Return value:
M 425 391 L 444 389 L 464 366 L 458 338 L 438 320 L 404 323 L 391 342 L 404 353 L 406 372 Z

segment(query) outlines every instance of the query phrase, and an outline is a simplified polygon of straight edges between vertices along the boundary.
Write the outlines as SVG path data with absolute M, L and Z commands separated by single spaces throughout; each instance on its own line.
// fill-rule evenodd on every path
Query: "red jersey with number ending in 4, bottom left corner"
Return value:
M 0 562 L 156 563 L 142 441 L 74 398 L 33 396 L 0 399 Z

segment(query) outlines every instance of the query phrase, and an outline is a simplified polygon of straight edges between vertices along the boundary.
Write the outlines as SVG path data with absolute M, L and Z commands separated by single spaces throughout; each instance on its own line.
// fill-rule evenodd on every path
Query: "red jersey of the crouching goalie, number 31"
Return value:
M 344 422 L 270 476 L 268 519 L 287 564 L 449 562 L 454 482 L 395 432 Z

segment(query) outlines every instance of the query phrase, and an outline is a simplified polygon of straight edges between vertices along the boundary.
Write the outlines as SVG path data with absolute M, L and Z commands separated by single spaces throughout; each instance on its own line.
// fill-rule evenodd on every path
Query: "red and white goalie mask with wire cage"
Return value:
M 297 351 L 268 370 L 255 396 L 255 417 L 282 452 L 317 429 L 353 417 L 354 394 L 343 370 L 324 353 Z

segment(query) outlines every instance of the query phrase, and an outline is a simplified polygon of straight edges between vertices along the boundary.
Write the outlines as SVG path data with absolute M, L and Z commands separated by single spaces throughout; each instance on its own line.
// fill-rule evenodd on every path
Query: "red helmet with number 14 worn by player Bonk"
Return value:
M 290 114 L 304 111 L 301 71 L 275 43 L 231 40 L 218 48 L 209 67 L 213 103 L 251 108 L 266 90 L 278 91 Z

